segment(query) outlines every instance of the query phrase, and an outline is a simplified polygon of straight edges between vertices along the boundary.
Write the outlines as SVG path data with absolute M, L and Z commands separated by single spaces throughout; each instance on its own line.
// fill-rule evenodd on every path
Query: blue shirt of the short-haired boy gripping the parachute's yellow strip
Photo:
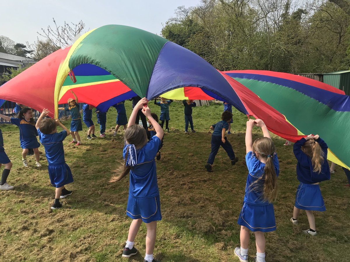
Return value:
M 67 131 L 63 130 L 59 133 L 44 134 L 39 129 L 40 143 L 45 148 L 45 155 L 49 165 L 62 165 L 64 161 L 63 140 L 67 137 Z

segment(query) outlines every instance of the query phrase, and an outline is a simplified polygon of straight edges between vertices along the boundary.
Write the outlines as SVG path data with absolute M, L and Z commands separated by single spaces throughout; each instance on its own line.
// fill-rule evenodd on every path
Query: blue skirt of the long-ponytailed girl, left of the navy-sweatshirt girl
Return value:
M 255 206 L 244 202 L 237 224 L 245 226 L 253 232 L 275 231 L 276 220 L 273 204 L 268 204 L 266 206 Z

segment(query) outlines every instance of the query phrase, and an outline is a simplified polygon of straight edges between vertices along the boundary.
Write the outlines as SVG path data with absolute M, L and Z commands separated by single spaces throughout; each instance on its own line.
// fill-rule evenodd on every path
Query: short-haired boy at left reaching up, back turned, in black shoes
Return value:
M 58 209 L 62 208 L 59 199 L 72 194 L 72 191 L 64 187 L 64 185 L 73 182 L 73 176 L 69 166 L 65 163 L 62 143 L 69 136 L 70 131 L 58 119 L 43 119 L 49 112 L 48 109 L 43 109 L 35 127 L 39 133 L 40 143 L 45 148 L 51 184 L 56 187 L 55 202 L 51 209 Z M 61 126 L 63 131 L 57 133 L 57 125 Z

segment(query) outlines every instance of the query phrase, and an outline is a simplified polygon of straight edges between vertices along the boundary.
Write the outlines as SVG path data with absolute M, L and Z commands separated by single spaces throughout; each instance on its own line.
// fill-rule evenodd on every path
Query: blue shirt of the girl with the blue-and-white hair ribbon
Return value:
M 154 136 L 141 149 L 137 150 L 137 165 L 130 170 L 129 194 L 134 198 L 149 198 L 159 195 L 157 170 L 154 158 L 158 152 L 161 140 Z M 125 158 L 126 147 L 123 149 Z

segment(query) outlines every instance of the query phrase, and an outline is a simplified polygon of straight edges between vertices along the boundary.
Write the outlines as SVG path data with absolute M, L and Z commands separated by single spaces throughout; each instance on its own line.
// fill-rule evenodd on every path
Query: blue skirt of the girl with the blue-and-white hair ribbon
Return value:
M 162 220 L 159 196 L 134 198 L 129 194 L 126 215 L 132 219 L 142 219 L 145 223 Z

